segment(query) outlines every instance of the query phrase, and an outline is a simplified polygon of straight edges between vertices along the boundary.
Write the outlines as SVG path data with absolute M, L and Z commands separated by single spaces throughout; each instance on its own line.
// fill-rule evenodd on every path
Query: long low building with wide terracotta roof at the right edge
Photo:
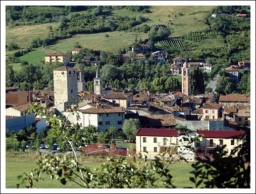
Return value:
M 233 105 L 250 105 L 250 95 L 245 94 L 227 94 L 221 95 L 219 98 L 219 104 L 223 106 Z

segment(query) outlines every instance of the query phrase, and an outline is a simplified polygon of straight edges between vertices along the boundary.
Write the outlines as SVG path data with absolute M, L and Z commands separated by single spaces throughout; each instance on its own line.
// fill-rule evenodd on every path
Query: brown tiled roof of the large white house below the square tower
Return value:
M 123 107 L 109 107 L 109 106 L 99 106 L 98 108 L 96 107 L 91 107 L 85 110 L 81 110 L 81 113 L 91 113 L 91 114 L 97 114 L 97 113 L 125 113 L 125 109 Z

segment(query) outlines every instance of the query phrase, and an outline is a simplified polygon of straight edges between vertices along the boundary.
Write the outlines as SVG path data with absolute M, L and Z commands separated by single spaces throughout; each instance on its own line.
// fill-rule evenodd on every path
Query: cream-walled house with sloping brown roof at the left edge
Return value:
M 29 115 L 28 108 L 29 106 L 32 105 L 31 102 L 24 103 L 21 105 L 17 105 L 15 107 L 10 107 L 6 109 L 6 116 L 24 116 L 24 115 Z

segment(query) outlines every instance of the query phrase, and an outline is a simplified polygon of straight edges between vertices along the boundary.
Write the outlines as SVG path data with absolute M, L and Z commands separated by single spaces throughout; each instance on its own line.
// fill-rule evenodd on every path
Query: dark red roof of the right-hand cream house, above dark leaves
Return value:
M 244 131 L 214 131 L 214 130 L 197 130 L 197 134 L 203 134 L 204 138 L 225 138 L 225 139 L 241 139 L 245 134 Z

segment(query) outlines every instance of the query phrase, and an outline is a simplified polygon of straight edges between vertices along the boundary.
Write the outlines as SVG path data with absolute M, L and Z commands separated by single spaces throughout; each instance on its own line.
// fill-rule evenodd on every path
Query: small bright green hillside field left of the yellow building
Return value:
M 44 59 L 44 55 L 46 55 L 46 53 L 39 50 L 33 50 L 19 57 L 19 59 L 20 61 L 27 61 L 28 63 L 37 65 L 37 64 L 42 64 L 41 60 Z

